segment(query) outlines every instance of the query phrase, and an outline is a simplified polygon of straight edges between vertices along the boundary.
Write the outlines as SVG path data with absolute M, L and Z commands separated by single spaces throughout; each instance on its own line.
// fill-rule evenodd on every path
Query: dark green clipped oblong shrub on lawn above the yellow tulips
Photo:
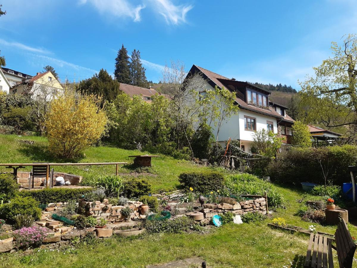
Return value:
M 178 177 L 183 188 L 193 188 L 196 193 L 216 192 L 223 188 L 223 175 L 215 171 L 184 172 Z

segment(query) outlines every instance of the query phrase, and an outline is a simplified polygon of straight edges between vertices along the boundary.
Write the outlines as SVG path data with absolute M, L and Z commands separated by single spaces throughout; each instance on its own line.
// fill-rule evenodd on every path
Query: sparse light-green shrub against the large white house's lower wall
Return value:
M 260 154 L 267 158 L 275 158 L 278 149 L 281 148 L 283 138 L 273 131 L 261 129 L 253 134 L 251 143 L 252 153 Z

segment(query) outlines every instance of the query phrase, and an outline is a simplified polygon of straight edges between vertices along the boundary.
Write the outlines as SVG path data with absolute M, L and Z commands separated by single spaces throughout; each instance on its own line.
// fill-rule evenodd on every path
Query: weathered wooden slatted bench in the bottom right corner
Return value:
M 332 244 L 333 240 L 336 246 Z M 311 234 L 307 248 L 304 268 L 333 267 L 332 249 L 337 251 L 340 268 L 352 268 L 353 255 L 356 244 L 353 242 L 345 220 L 342 220 L 336 229 L 335 239 L 321 234 Z

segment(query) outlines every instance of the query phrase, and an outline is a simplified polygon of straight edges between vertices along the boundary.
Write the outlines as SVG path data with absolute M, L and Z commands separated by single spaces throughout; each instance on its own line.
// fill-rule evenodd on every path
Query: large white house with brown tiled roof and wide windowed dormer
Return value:
M 193 65 L 187 76 L 195 74 L 205 80 L 205 85 L 199 90 L 212 90 L 218 86 L 236 93 L 236 105 L 240 110 L 222 125 L 218 135 L 218 142 L 222 146 L 229 138 L 236 139 L 240 140 L 241 149 L 251 152 L 251 142 L 256 130 L 266 129 L 277 133 L 278 127 L 281 128 L 283 143 L 291 144 L 291 126 L 295 121 L 286 114 L 287 107 L 269 101 L 270 91 Z M 217 129 L 213 126 L 213 134 L 216 133 Z

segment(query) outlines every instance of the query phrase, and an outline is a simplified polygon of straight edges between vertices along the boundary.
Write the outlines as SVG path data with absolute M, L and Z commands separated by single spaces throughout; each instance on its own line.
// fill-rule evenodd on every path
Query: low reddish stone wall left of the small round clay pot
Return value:
M 142 205 L 141 202 L 128 201 L 125 206 L 114 206 L 109 204 L 108 199 L 104 199 L 103 203 L 100 201 L 86 202 L 80 201 L 79 207 L 83 208 L 86 216 L 92 216 L 97 219 L 106 219 L 108 222 L 122 222 L 126 220 L 124 215 L 121 214 L 122 208 L 130 208 L 133 213 L 130 215 L 129 219 L 145 218 L 145 215 L 141 215 L 139 207 Z

